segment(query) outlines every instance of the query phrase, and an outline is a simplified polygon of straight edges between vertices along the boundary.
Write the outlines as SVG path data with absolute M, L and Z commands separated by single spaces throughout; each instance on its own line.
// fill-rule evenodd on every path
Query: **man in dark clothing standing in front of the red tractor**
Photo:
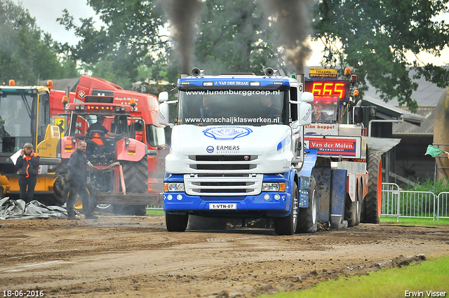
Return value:
M 68 219 L 79 220 L 79 216 L 76 215 L 74 205 L 76 196 L 81 196 L 83 201 L 83 211 L 85 218 L 97 219 L 98 217 L 93 215 L 93 209 L 95 208 L 95 202 L 91 202 L 91 196 L 86 189 L 87 182 L 87 158 L 86 158 L 87 144 L 84 141 L 79 141 L 76 151 L 72 153 L 67 164 L 67 182 L 69 183 L 69 197 L 67 198 L 67 215 Z

